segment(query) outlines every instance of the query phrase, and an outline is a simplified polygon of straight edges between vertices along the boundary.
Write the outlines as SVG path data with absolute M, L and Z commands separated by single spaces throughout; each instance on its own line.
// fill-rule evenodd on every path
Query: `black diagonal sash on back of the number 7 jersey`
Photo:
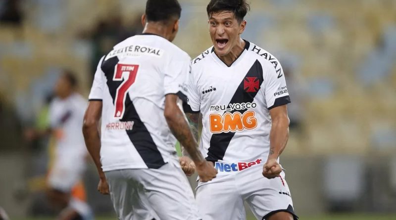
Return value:
M 113 81 L 114 68 L 118 63 L 117 57 L 112 57 L 108 60 L 103 60 L 101 69 L 107 79 L 107 87 L 109 89 L 110 95 L 113 98 L 113 103 L 115 103 L 115 95 L 117 88 L 120 87 L 122 81 Z M 126 131 L 129 139 L 135 146 L 139 155 L 142 157 L 143 161 L 146 163 L 148 168 L 158 169 L 165 164 L 161 153 L 159 152 L 157 146 L 155 145 L 150 132 L 148 132 L 145 124 L 139 117 L 133 102 L 127 93 L 125 98 L 125 112 L 121 122 L 133 121 L 133 129 Z

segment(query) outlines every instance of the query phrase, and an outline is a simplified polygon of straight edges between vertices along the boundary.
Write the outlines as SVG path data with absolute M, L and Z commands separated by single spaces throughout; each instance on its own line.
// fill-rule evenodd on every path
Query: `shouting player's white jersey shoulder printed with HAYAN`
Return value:
M 282 66 L 274 55 L 256 44 L 251 42 L 247 42 L 247 44 L 249 44 L 247 51 L 250 57 L 256 58 L 263 68 L 271 68 L 279 75 L 282 74 Z

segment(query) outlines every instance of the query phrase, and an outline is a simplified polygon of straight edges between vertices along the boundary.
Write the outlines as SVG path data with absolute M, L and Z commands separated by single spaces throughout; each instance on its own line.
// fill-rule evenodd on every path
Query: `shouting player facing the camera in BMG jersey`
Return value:
M 211 0 L 213 46 L 192 62 L 185 110 L 197 134 L 202 113 L 200 148 L 219 172 L 198 183 L 198 208 L 205 220 L 244 220 L 246 201 L 258 220 L 293 220 L 279 164 L 289 136 L 289 93 L 279 61 L 241 38 L 248 10 L 245 0 Z

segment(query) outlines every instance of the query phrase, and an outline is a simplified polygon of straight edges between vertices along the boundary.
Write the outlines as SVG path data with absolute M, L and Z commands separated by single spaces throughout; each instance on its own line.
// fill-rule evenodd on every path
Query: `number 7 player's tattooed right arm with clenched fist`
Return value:
M 190 130 L 186 117 L 177 106 L 178 99 L 179 96 L 176 94 L 167 94 L 165 96 L 164 116 L 166 122 L 173 135 L 175 135 L 180 144 L 184 146 L 191 159 L 194 161 L 200 181 L 209 181 L 216 177 L 217 171 L 200 153 L 197 140 Z

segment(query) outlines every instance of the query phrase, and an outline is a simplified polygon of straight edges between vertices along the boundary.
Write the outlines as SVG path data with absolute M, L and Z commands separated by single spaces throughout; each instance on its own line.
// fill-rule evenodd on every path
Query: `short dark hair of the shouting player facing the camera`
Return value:
M 238 22 L 242 22 L 250 10 L 250 5 L 246 0 L 210 0 L 206 7 L 207 16 L 220 11 L 231 11 Z

